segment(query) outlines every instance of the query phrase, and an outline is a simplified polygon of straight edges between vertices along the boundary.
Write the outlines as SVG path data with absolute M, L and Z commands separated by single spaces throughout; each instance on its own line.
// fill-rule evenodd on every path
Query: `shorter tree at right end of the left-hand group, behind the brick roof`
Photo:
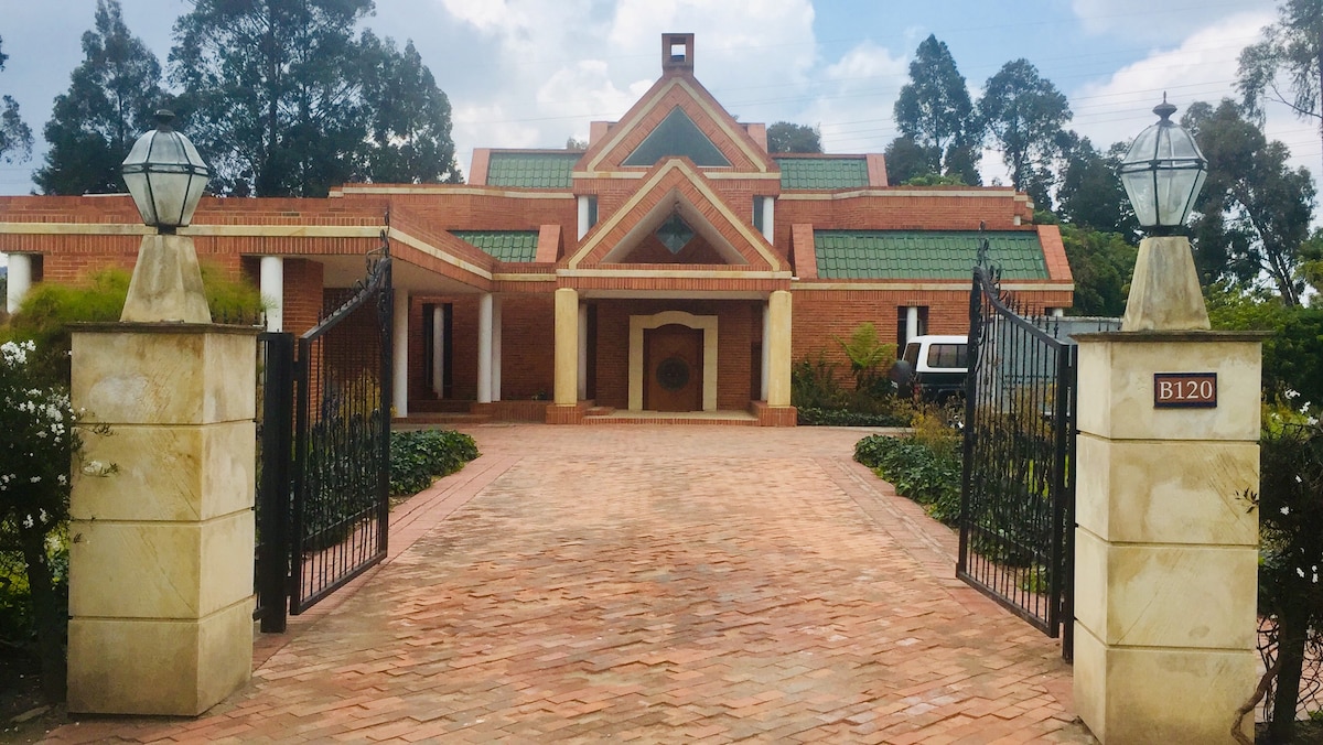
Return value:
M 450 99 L 437 87 L 413 41 L 363 34 L 364 101 L 370 115 L 364 176 L 378 183 L 451 183 L 463 179 L 450 139 Z

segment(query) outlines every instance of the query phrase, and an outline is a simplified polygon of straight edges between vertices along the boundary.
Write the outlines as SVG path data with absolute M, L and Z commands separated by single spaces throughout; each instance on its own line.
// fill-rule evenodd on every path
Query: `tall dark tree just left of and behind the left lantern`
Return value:
M 50 151 L 33 181 L 45 195 L 123 192 L 120 163 L 138 135 L 155 127 L 152 112 L 165 98 L 160 62 L 128 33 L 119 0 L 97 0 L 82 46 L 83 61 L 44 130 Z

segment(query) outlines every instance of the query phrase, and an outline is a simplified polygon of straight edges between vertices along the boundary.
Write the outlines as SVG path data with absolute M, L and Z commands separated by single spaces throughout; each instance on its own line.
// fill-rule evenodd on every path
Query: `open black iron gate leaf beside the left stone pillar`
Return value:
M 263 336 L 257 593 L 263 631 L 386 556 L 390 490 L 390 255 L 295 340 Z M 295 355 L 296 347 L 296 355 Z

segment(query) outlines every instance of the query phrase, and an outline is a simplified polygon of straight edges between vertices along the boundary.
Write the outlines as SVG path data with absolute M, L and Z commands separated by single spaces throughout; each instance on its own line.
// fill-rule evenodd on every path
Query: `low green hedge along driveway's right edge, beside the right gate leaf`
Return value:
M 935 520 L 960 519 L 960 459 L 914 438 L 875 434 L 855 445 L 855 460 L 896 486 L 896 494 L 923 505 Z

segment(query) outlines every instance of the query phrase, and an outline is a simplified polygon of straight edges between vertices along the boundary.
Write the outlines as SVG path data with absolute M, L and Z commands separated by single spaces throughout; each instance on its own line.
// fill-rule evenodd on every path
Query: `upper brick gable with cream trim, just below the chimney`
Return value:
M 777 171 L 766 148 L 754 142 L 749 131 L 688 75 L 665 75 L 614 124 L 607 135 L 590 147 L 576 167 L 576 173 L 599 173 L 631 168 L 626 164 L 644 142 L 663 127 L 676 110 L 729 163 L 733 171 L 769 173 Z M 676 153 L 688 155 L 688 153 Z M 656 161 L 644 164 L 654 165 Z M 700 164 L 703 164 L 700 161 Z

